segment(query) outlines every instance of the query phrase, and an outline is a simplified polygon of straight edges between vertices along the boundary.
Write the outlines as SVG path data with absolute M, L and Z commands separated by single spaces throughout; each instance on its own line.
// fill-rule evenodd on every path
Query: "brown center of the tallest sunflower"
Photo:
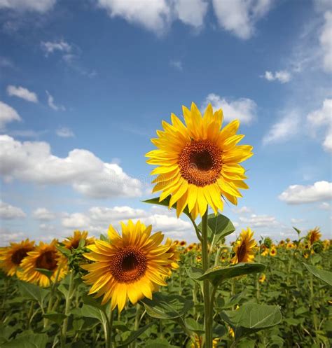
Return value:
M 222 151 L 209 140 L 192 140 L 179 157 L 181 176 L 195 186 L 216 182 L 221 173 Z

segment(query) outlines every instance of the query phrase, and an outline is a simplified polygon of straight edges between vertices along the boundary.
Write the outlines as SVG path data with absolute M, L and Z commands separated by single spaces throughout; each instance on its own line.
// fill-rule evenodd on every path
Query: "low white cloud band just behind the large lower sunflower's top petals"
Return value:
M 89 232 L 105 233 L 109 224 L 119 227 L 120 221 L 138 219 L 146 225 L 153 225 L 153 231 L 161 230 L 168 237 L 184 238 L 191 233 L 193 227 L 190 222 L 174 216 L 174 211 L 152 207 L 149 211 L 134 209 L 132 207 L 92 207 L 86 213 L 66 214 L 62 218 L 62 226 L 68 230 L 76 228 L 85 229 Z M 193 236 L 194 237 L 194 236 Z

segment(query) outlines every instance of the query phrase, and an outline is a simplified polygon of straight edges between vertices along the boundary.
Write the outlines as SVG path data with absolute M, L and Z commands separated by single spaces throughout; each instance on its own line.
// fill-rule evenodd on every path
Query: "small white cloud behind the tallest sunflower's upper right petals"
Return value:
M 223 118 L 226 121 L 239 119 L 242 123 L 249 124 L 256 119 L 257 104 L 254 100 L 248 98 L 240 98 L 234 101 L 226 99 L 210 93 L 202 105 L 202 109 L 211 103 L 214 109 L 223 109 Z

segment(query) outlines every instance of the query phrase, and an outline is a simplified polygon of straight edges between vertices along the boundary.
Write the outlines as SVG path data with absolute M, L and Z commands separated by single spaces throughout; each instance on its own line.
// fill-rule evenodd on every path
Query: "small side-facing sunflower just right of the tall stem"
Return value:
M 232 258 L 231 263 L 252 262 L 255 257 L 256 240 L 253 238 L 254 232 L 250 228 L 242 230 L 239 239 L 233 246 L 235 256 Z

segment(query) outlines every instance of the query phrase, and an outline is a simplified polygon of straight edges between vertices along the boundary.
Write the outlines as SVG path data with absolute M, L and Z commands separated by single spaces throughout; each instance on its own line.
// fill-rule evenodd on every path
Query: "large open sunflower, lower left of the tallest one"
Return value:
M 141 298 L 152 298 L 152 292 L 166 285 L 170 267 L 175 262 L 169 253 L 170 245 L 160 244 L 162 232 L 151 235 L 152 226 L 140 221 L 121 223 L 122 237 L 109 226 L 109 241 L 95 240 L 88 246 L 85 258 L 94 261 L 83 265 L 88 270 L 83 279 L 89 285 L 89 294 L 104 295 L 102 304 L 111 300 L 111 307 L 121 312 L 127 299 L 135 304 Z

